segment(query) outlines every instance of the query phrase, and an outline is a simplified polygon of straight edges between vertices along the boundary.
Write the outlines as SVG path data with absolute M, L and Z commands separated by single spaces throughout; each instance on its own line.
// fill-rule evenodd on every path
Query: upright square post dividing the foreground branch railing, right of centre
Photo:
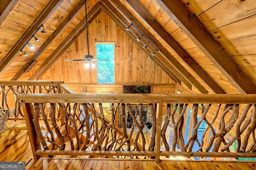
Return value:
M 159 100 L 159 103 L 156 105 L 156 162 L 160 162 L 162 110 L 163 101 Z

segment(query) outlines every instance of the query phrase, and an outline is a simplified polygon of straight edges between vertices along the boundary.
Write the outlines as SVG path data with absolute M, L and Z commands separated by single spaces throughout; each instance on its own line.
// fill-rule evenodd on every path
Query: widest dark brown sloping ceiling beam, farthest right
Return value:
M 230 59 L 220 44 L 202 27 L 180 0 L 156 0 L 156 2 L 241 94 L 256 93 L 256 86 L 252 80 L 238 64 Z

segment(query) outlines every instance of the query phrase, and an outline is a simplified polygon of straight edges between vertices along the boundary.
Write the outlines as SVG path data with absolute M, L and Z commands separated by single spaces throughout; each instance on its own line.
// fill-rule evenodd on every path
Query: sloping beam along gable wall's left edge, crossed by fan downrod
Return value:
M 88 12 L 88 25 L 94 21 L 94 19 L 102 12 L 100 3 L 97 3 Z M 34 73 L 28 80 L 39 80 L 44 73 L 62 56 L 62 54 L 74 43 L 74 41 L 86 30 L 86 18 L 84 18 L 73 31 L 66 37 L 64 41 L 54 50 L 54 52 L 42 63 L 42 65 L 36 70 L 37 74 Z

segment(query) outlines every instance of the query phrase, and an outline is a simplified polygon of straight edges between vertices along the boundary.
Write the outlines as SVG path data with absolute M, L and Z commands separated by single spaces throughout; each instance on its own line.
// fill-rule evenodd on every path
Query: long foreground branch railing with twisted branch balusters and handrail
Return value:
M 22 101 L 35 160 L 43 155 L 106 155 L 131 158 L 146 156 L 155 158 L 157 162 L 160 156 L 256 157 L 255 94 L 20 94 L 17 98 Z M 42 107 L 44 103 L 51 103 L 52 124 L 44 121 L 50 137 L 42 134 L 37 120 L 38 115 L 45 115 Z M 111 120 L 108 122 L 104 119 L 102 103 L 111 104 Z M 99 106 L 98 111 L 94 107 L 96 104 Z M 135 115 L 132 114 L 130 104 L 138 104 L 139 109 Z M 59 127 L 54 120 L 57 105 L 64 111 L 63 127 Z M 143 133 L 145 127 L 141 108 L 145 105 L 152 112 L 150 135 Z M 192 107 L 193 125 L 185 127 L 184 117 L 188 107 Z M 243 108 L 242 111 L 240 107 Z M 117 113 L 118 108 L 121 108 L 119 113 Z M 125 112 L 125 108 L 128 113 Z M 211 109 L 215 112 L 214 117 L 208 116 Z M 165 113 L 162 113 L 163 110 Z M 122 117 L 123 131 L 115 124 L 118 114 Z M 128 114 L 134 122 L 129 132 L 125 117 Z M 201 117 L 199 120 L 197 115 Z M 162 116 L 165 116 L 163 123 Z M 199 141 L 198 128 L 203 120 L 207 127 L 202 135 L 202 141 Z M 99 125 L 100 121 L 101 125 Z M 166 140 L 168 125 L 172 125 L 173 128 L 171 134 L 173 138 L 169 142 Z M 137 130 L 134 132 L 135 127 Z M 192 129 L 192 133 L 185 141 L 186 128 Z M 208 143 L 205 143 L 204 138 L 209 132 L 212 135 Z M 135 136 L 134 140 L 131 140 L 132 135 Z M 146 135 L 150 139 L 148 143 L 145 140 Z M 232 137 L 229 142 L 225 140 L 226 135 Z M 138 142 L 139 138 L 142 144 Z M 250 144 L 249 139 L 252 139 Z M 236 152 L 230 152 L 229 147 L 235 141 L 238 143 Z M 145 145 L 148 147 L 146 148 Z M 194 145 L 199 147 L 196 152 L 192 152 Z

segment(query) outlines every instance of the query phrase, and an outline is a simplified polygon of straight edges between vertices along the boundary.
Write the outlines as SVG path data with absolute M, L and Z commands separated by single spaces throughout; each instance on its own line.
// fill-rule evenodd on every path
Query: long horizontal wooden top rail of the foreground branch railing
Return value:
M 26 103 L 256 104 L 256 94 L 20 94 Z

